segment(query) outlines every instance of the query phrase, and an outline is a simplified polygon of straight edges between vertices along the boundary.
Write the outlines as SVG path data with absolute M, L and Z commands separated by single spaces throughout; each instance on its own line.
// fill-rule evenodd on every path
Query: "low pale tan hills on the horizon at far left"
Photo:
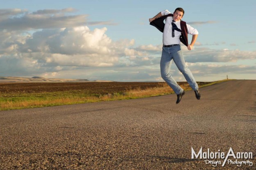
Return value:
M 112 82 L 112 81 L 100 81 L 97 82 Z M 2 77 L 0 76 L 0 83 L 40 83 L 40 82 L 93 82 L 87 79 L 66 79 L 66 78 L 44 78 L 34 76 L 32 78 L 27 77 Z

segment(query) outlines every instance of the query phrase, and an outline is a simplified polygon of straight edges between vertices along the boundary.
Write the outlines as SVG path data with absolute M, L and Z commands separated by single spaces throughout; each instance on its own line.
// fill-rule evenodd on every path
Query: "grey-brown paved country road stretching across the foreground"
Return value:
M 238 169 L 239 161 L 255 169 L 256 81 L 200 91 L 200 100 L 187 91 L 179 104 L 170 94 L 1 111 L 0 169 Z M 222 167 L 225 158 L 191 159 L 192 147 L 253 157 L 228 157 Z

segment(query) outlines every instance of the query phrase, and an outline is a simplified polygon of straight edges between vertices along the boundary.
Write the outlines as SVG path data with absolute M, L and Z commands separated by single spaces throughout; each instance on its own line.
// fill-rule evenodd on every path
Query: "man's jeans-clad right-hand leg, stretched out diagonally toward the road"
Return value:
M 177 45 L 174 48 L 175 49 L 173 49 L 173 50 L 175 50 L 175 52 L 172 53 L 174 63 L 177 65 L 179 71 L 184 75 L 184 77 L 186 78 L 186 81 L 188 82 L 190 87 L 194 91 L 198 90 L 198 85 L 197 85 L 197 82 L 195 81 L 193 74 L 191 73 L 190 69 L 188 69 L 188 67 L 186 67 L 185 60 L 182 55 L 180 45 Z

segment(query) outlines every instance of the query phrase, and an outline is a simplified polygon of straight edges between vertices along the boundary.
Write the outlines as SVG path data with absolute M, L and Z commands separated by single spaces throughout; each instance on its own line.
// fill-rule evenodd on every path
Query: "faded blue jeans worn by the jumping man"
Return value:
M 177 84 L 177 82 L 174 80 L 174 78 L 172 78 L 172 75 L 170 74 L 172 59 L 177 65 L 179 71 L 186 78 L 186 81 L 188 82 L 190 87 L 193 90 L 197 90 L 198 85 L 192 73 L 185 65 L 185 60 L 183 58 L 180 45 L 176 45 L 173 47 L 163 47 L 160 62 L 161 76 L 163 80 L 173 89 L 176 94 L 180 94 L 183 92 L 183 89 Z

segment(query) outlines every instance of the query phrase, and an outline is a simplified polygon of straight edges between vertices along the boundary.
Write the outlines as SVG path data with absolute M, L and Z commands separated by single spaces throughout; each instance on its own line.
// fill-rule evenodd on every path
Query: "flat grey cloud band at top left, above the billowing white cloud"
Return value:
M 22 9 L 0 9 L 0 29 L 33 30 L 77 27 L 84 25 L 116 25 L 112 21 L 88 22 L 88 15 L 66 15 L 76 9 L 44 9 L 28 13 Z

